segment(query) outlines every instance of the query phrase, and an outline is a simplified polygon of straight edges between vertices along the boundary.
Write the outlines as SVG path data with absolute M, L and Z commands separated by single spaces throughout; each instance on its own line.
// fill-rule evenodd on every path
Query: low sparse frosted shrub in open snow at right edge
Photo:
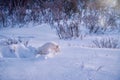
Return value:
M 120 48 L 120 40 L 112 37 L 93 40 L 93 44 L 98 48 Z

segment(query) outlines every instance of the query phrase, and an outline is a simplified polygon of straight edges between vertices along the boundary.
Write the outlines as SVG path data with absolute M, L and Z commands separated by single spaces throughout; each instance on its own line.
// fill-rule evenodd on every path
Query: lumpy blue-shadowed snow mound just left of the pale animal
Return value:
M 21 43 L 0 47 L 1 58 L 32 58 L 34 56 L 35 48 Z

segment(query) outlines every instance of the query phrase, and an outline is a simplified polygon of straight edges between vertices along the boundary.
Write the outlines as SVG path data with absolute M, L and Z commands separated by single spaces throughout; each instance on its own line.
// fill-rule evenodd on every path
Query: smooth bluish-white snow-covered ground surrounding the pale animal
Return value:
M 0 30 L 0 41 L 10 37 L 29 43 L 18 44 L 14 55 L 9 54 L 11 45 L 0 43 L 0 80 L 120 80 L 120 49 L 91 48 L 101 35 L 59 40 L 54 29 L 42 24 Z M 60 54 L 35 58 L 35 50 L 50 41 L 59 44 Z

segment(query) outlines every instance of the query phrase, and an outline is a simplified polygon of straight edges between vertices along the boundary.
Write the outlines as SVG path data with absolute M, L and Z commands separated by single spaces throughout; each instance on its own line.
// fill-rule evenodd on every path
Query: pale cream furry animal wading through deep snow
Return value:
M 48 42 L 38 48 L 36 57 L 45 56 L 45 58 L 53 57 L 60 52 L 60 47 L 55 42 Z

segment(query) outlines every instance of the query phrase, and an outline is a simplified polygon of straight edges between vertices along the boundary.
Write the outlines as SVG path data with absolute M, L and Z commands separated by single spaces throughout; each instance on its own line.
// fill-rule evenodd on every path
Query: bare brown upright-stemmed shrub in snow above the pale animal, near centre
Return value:
M 63 20 L 62 22 L 57 22 L 56 30 L 60 39 L 79 37 L 79 25 L 74 21 Z

